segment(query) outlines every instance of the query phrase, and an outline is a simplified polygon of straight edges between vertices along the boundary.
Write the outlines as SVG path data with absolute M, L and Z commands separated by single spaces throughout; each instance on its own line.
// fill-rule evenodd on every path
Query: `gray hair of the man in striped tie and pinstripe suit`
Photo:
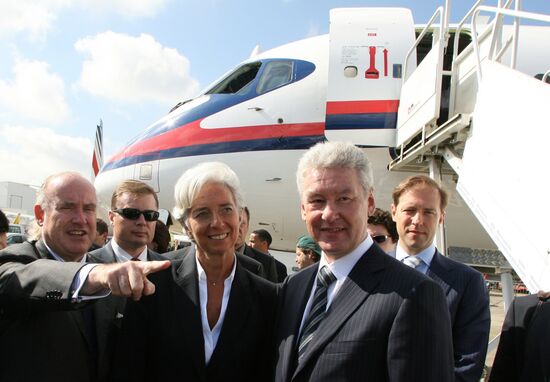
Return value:
M 368 194 L 372 191 L 372 169 L 363 150 L 350 142 L 320 142 L 307 150 L 298 162 L 296 184 L 300 195 L 308 172 L 323 168 L 356 169 L 365 192 Z

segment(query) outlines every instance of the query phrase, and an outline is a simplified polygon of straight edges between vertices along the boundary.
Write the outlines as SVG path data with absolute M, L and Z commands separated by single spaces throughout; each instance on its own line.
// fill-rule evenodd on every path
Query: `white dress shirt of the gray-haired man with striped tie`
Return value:
M 373 241 L 370 235 L 367 235 L 365 240 L 357 246 L 351 253 L 340 257 L 338 260 L 334 260 L 332 263 L 329 263 L 326 259 L 325 252 L 321 255 L 321 260 L 319 260 L 319 268 L 323 266 L 328 266 L 331 272 L 336 276 L 336 281 L 330 284 L 327 290 L 327 310 L 330 307 L 330 304 L 336 297 L 338 291 L 342 287 L 342 284 L 347 280 L 349 273 L 355 267 L 355 264 L 359 261 L 361 256 L 369 250 L 372 246 Z M 311 294 L 307 301 L 306 309 L 304 310 L 304 315 L 302 316 L 302 323 L 300 324 L 300 333 L 302 332 L 302 327 L 304 326 L 304 321 L 307 318 L 309 311 L 311 310 L 311 305 L 313 304 L 313 296 L 315 295 L 315 289 L 317 289 L 317 274 L 313 278 L 313 288 L 311 288 Z

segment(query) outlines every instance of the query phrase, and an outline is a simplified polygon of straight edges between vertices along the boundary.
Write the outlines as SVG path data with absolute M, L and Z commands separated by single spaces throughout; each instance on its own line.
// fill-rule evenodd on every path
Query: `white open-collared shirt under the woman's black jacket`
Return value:
M 214 325 L 212 329 L 210 329 L 210 325 L 208 324 L 208 315 L 206 313 L 206 304 L 208 302 L 208 281 L 206 279 L 206 272 L 201 266 L 196 254 L 195 261 L 197 263 L 197 271 L 199 273 L 199 300 L 201 305 L 202 336 L 204 339 L 204 360 L 206 365 L 208 365 L 210 358 L 212 357 L 212 353 L 214 353 L 214 349 L 216 349 L 216 344 L 218 343 L 218 338 L 220 337 L 220 332 L 222 330 L 223 320 L 227 310 L 227 303 L 229 302 L 229 295 L 231 293 L 231 285 L 233 284 L 233 279 L 235 278 L 237 259 L 234 257 L 231 274 L 223 282 L 222 309 L 220 311 L 220 316 L 218 317 L 218 322 L 216 322 L 216 325 Z

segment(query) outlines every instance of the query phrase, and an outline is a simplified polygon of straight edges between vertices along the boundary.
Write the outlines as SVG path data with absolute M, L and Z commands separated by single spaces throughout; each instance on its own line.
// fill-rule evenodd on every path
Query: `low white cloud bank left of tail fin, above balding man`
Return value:
M 2 180 L 40 185 L 60 171 L 91 174 L 92 142 L 47 128 L 0 125 Z

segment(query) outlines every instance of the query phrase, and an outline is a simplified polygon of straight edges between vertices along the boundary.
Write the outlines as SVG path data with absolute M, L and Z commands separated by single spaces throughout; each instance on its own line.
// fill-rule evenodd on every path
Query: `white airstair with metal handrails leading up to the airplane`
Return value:
M 457 177 L 458 192 L 527 288 L 550 290 L 550 157 L 545 150 L 550 60 L 542 81 L 518 69 L 520 38 L 527 38 L 520 20 L 550 23 L 550 16 L 521 11 L 519 1 L 514 9 L 512 0 L 498 7 L 477 1 L 450 28 L 449 3 L 436 10 L 407 55 L 405 66 L 427 31 L 433 31 L 431 51 L 410 74 L 403 70 L 397 157 L 389 169 L 429 172 L 437 180 L 442 174 Z M 493 17 L 482 30 L 480 13 Z M 505 17 L 514 24 L 505 27 Z M 468 21 L 472 41 L 459 52 L 458 39 Z M 451 35 L 452 66 L 445 70 Z M 444 249 L 444 234 L 438 237 L 438 248 Z M 511 286 L 511 279 L 503 281 Z

